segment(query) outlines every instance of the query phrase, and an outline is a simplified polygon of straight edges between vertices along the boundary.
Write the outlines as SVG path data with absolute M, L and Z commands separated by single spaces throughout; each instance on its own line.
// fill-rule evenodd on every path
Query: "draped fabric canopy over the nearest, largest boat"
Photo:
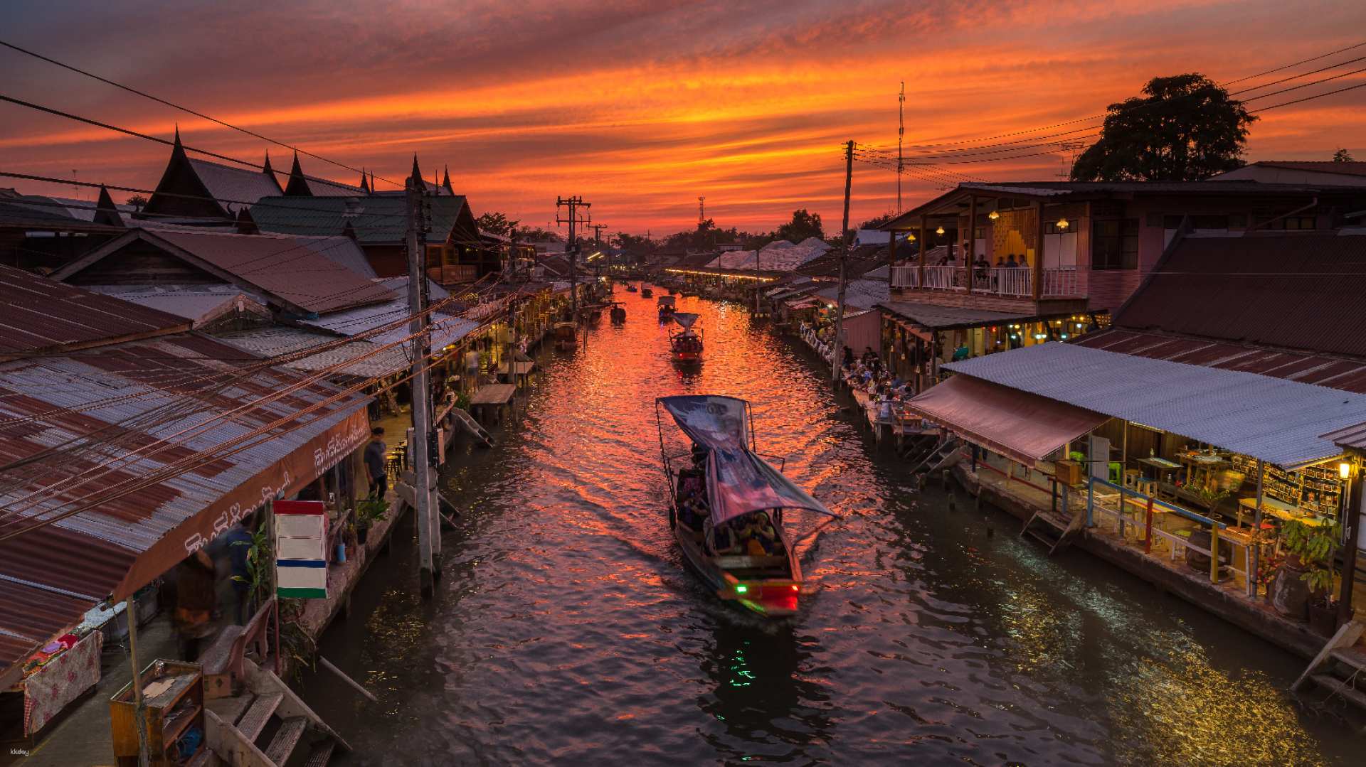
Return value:
M 765 509 L 807 509 L 836 516 L 750 450 L 744 400 L 714 394 L 660 397 L 694 442 L 708 448 L 706 490 L 712 524 Z

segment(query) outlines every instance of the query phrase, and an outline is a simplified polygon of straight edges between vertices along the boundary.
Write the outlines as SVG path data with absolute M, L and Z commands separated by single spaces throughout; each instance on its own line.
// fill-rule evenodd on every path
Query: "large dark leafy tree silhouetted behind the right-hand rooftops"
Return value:
M 1072 165 L 1074 182 L 1195 182 L 1243 167 L 1257 117 L 1201 74 L 1153 78 L 1143 96 L 1111 104 L 1101 138 Z

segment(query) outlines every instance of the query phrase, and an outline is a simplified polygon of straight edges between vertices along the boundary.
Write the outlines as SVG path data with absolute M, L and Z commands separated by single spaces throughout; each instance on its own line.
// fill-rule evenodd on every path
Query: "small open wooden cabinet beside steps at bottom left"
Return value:
M 142 670 L 148 752 L 153 767 L 197 763 L 208 748 L 204 670 L 198 663 L 153 661 Z M 109 699 L 113 755 L 120 767 L 138 764 L 137 701 L 133 682 Z M 195 737 L 198 733 L 198 737 Z M 191 747 L 191 744 L 194 744 Z M 184 753 L 182 753 L 184 752 Z

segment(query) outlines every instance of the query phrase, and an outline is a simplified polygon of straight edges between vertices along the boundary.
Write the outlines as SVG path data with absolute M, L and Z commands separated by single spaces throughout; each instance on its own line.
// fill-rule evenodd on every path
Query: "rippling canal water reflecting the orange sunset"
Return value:
M 321 651 L 306 699 L 350 764 L 739 762 L 1343 764 L 1356 741 L 1284 689 L 1258 639 L 1019 523 L 907 487 L 809 352 L 736 304 L 702 314 L 682 373 L 654 304 L 546 352 L 493 449 L 443 475 L 463 510 L 417 596 L 411 525 Z M 785 622 L 719 602 L 665 517 L 654 397 L 753 403 L 761 452 L 843 515 L 807 553 L 816 594 Z M 1359 763 L 1359 762 L 1358 762 Z

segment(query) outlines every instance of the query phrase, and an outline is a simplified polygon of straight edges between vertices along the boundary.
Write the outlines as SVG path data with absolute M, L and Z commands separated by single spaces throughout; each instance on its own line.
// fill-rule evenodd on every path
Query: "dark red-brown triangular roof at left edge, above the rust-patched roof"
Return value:
M 183 329 L 183 317 L 0 266 L 0 355 Z

